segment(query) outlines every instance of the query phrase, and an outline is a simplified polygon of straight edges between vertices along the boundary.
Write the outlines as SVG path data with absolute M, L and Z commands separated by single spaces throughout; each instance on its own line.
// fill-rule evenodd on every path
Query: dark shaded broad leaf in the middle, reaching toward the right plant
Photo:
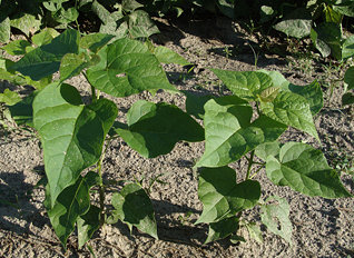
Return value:
M 117 128 L 116 132 L 147 158 L 170 152 L 180 140 L 204 140 L 199 123 L 173 105 L 137 101 L 127 113 L 127 122 L 128 128 Z

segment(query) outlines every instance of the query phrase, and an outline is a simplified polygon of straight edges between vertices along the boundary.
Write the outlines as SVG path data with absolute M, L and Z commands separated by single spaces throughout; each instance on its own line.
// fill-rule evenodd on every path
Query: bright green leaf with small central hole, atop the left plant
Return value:
M 95 88 L 106 93 L 127 97 L 144 90 L 176 91 L 158 59 L 139 41 L 119 39 L 98 54 L 101 61 L 87 70 L 87 78 Z

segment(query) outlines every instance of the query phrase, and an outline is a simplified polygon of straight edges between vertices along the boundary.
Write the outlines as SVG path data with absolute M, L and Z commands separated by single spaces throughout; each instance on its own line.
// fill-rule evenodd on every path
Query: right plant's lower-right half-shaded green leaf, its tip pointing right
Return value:
M 351 197 L 324 155 L 302 142 L 284 145 L 278 159 L 269 156 L 266 171 L 274 183 L 289 186 L 307 196 Z

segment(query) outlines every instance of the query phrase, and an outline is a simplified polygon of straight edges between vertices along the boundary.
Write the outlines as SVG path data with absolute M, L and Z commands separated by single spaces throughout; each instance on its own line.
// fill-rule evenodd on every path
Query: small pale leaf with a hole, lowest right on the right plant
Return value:
M 267 198 L 267 201 L 276 200 L 278 204 L 269 204 L 260 206 L 260 218 L 262 222 L 267 226 L 267 228 L 284 238 L 292 245 L 292 222 L 288 219 L 289 205 L 286 199 L 273 196 Z

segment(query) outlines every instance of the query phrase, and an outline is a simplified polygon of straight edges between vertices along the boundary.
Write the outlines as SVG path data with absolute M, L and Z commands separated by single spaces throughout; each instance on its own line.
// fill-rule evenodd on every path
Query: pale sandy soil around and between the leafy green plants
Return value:
M 258 43 L 257 37 L 246 34 L 239 26 L 229 20 L 189 23 L 159 20 L 158 23 L 163 33 L 154 37 L 154 41 L 174 49 L 197 64 L 189 75 L 181 67 L 165 66 L 170 81 L 178 89 L 199 95 L 223 95 L 227 93 L 227 90 L 220 87 L 217 78 L 205 68 L 255 70 L 255 57 L 248 44 L 255 47 Z M 233 50 L 232 56 L 225 57 L 225 47 Z M 305 59 L 305 64 L 297 61 L 296 70 L 284 57 L 264 53 L 257 49 L 256 52 L 259 52 L 258 68 L 281 71 L 297 85 L 306 85 L 314 79 L 336 79 L 341 76 L 341 71 L 325 73 L 321 66 L 312 60 Z M 77 86 L 82 96 L 89 95 L 83 78 L 73 78 L 70 83 Z M 8 83 L 1 82 L 0 91 L 6 87 Z M 315 117 L 322 140 L 322 146 L 317 147 L 327 152 L 333 163 L 344 155 L 352 158 L 354 151 L 353 110 L 340 106 L 341 93 L 341 89 L 336 88 L 330 99 L 326 90 L 325 107 Z M 118 120 L 124 121 L 125 113 L 137 99 L 166 101 L 180 108 L 185 106 L 185 97 L 164 92 L 155 97 L 141 93 L 115 99 L 120 110 Z M 0 257 L 90 257 L 87 248 L 77 250 L 75 235 L 69 238 L 68 250 L 65 252 L 50 228 L 41 204 L 45 190 L 42 187 L 36 187 L 43 175 L 42 152 L 36 135 L 2 130 L 0 137 Z M 312 138 L 292 129 L 285 133 L 284 139 L 304 140 L 316 146 Z M 154 185 L 151 192 L 159 240 L 137 230 L 130 235 L 122 224 L 105 226 L 90 241 L 97 257 L 354 257 L 353 199 L 308 198 L 287 187 L 272 185 L 264 171 L 256 178 L 262 183 L 262 199 L 278 195 L 286 198 L 291 205 L 293 245 L 268 232 L 265 227 L 262 227 L 263 244 L 242 231 L 246 242 L 230 245 L 226 239 L 203 245 L 207 227 L 193 225 L 203 206 L 197 196 L 197 176 L 191 171 L 193 163 L 203 151 L 203 143 L 179 142 L 169 155 L 144 159 L 122 140 L 111 142 L 104 161 L 107 179 L 132 180 L 134 176 L 141 178 L 144 175 L 147 182 L 148 179 L 164 173 L 161 179 L 166 183 Z M 243 163 L 244 160 L 240 160 L 232 165 L 239 177 L 245 172 Z M 352 178 L 343 175 L 342 179 L 346 188 L 354 194 Z M 188 217 L 188 211 L 194 215 Z M 247 212 L 246 218 L 260 224 L 257 211 L 255 208 Z

